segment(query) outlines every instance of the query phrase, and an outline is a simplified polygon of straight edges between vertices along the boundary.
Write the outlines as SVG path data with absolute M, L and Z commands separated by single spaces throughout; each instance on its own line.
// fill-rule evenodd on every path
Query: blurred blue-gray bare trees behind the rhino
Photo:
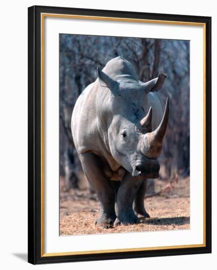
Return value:
M 71 135 L 72 110 L 83 89 L 96 80 L 97 66 L 119 55 L 135 65 L 141 81 L 167 76 L 159 92 L 163 104 L 170 99 L 160 178 L 190 174 L 190 41 L 60 34 L 59 163 L 67 188 L 79 189 L 83 179 Z

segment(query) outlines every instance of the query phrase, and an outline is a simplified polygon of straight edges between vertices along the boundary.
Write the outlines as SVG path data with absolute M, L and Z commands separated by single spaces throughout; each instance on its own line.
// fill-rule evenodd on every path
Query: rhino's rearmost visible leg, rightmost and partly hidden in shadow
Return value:
M 134 211 L 136 214 L 139 214 L 144 217 L 150 217 L 145 210 L 144 206 L 144 197 L 147 189 L 148 180 L 144 179 L 136 192 L 136 197 L 134 199 Z

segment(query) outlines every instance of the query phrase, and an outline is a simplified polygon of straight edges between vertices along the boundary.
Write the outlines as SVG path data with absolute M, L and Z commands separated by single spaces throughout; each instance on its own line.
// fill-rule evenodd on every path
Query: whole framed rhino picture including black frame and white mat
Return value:
M 211 252 L 211 17 L 28 8 L 28 262 Z

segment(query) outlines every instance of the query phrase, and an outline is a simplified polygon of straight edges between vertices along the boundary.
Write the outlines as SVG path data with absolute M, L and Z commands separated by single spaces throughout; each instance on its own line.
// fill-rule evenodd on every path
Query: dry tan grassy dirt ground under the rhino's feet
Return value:
M 190 180 L 155 181 L 155 193 L 145 198 L 150 218 L 140 223 L 101 228 L 94 225 L 99 202 L 87 189 L 64 189 L 60 180 L 60 235 L 85 235 L 120 232 L 142 232 L 190 229 Z

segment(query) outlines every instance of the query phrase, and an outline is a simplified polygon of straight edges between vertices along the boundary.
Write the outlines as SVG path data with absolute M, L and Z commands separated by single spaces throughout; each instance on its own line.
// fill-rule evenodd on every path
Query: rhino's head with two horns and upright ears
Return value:
M 109 88 L 106 114 L 108 147 L 114 160 L 136 178 L 158 178 L 158 156 L 169 117 L 166 100 L 160 125 L 153 130 L 155 115 L 148 104 L 148 93 L 158 91 L 166 78 L 161 74 L 148 82 L 135 80 L 130 75 L 109 77 L 98 69 L 99 83 Z

